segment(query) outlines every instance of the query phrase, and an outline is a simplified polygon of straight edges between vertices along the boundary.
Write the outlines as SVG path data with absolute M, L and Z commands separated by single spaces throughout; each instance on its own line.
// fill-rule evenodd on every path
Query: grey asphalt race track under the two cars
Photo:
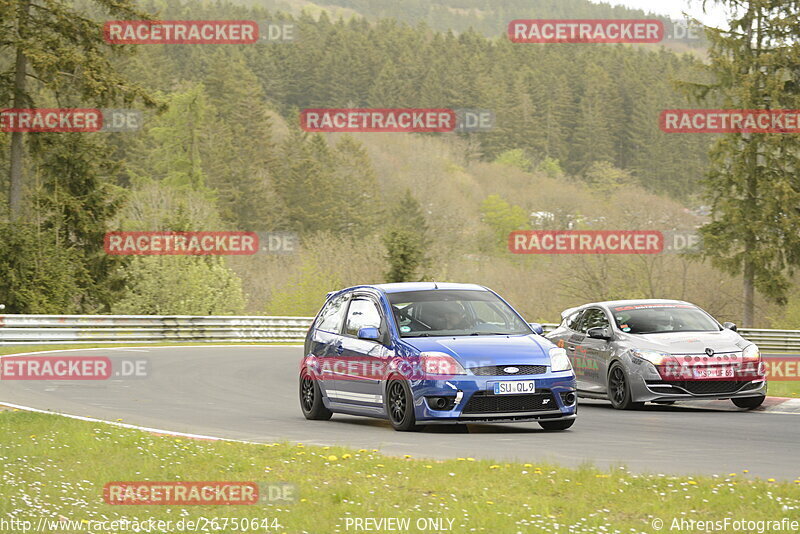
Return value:
M 53 355 L 57 353 L 49 353 Z M 151 428 L 258 442 L 376 448 L 414 457 L 476 457 L 637 472 L 800 477 L 800 417 L 728 409 L 647 405 L 620 412 L 582 400 L 576 424 L 543 432 L 535 423 L 429 426 L 400 433 L 384 421 L 334 415 L 306 421 L 297 400 L 300 346 L 87 349 L 70 356 L 148 361 L 145 378 L 0 381 L 0 402 Z

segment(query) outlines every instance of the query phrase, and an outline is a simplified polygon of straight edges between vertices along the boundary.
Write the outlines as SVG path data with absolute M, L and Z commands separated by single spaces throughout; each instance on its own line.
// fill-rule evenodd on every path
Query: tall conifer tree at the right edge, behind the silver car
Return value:
M 800 1 L 716 0 L 730 8 L 730 29 L 709 29 L 708 71 L 690 86 L 728 109 L 798 109 Z M 736 8 L 739 8 L 738 11 Z M 755 320 L 755 290 L 782 303 L 787 273 L 800 265 L 800 141 L 780 133 L 731 133 L 711 151 L 706 190 L 712 222 L 701 228 L 705 254 L 743 276 L 743 324 Z

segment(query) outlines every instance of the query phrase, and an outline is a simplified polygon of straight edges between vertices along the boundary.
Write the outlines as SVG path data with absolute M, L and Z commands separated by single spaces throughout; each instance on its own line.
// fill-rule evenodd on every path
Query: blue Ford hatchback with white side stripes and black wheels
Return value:
M 305 341 L 300 406 L 431 423 L 528 422 L 565 430 L 577 413 L 564 349 L 495 292 L 472 284 L 357 286 L 328 295 Z

